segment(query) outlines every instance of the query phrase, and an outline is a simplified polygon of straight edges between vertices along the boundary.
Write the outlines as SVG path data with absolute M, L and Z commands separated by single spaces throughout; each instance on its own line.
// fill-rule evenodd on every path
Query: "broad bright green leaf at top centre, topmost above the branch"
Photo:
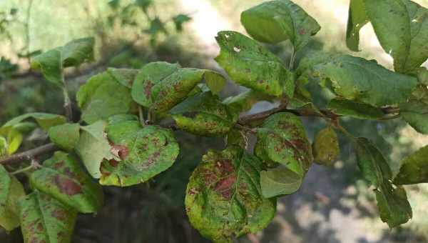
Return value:
M 245 30 L 254 39 L 276 44 L 290 40 L 296 50 L 305 46 L 321 27 L 305 10 L 288 0 L 267 1 L 242 12 Z

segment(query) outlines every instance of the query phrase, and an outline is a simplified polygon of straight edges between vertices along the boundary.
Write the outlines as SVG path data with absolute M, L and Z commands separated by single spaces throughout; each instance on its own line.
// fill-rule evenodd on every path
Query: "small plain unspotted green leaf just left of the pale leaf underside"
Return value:
M 73 123 L 61 124 L 49 129 L 49 139 L 61 149 L 71 151 L 80 139 L 80 125 Z

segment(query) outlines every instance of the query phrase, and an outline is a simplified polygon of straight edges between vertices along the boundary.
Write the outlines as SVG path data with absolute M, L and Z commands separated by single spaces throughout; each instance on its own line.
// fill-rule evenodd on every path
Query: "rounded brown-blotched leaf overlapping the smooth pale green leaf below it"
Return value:
M 273 114 L 263 122 L 262 127 L 258 129 L 255 155 L 270 167 L 275 167 L 276 164 L 284 165 L 300 177 L 300 182 L 305 177 L 313 159 L 312 148 L 302 122 L 297 116 L 287 112 Z M 269 192 L 263 191 L 263 194 L 280 195 L 287 191 L 292 192 L 286 185 L 284 186 L 283 189 L 275 188 L 276 193 L 272 191 L 273 188 L 270 188 Z M 265 188 L 267 187 L 262 187 L 262 189 Z

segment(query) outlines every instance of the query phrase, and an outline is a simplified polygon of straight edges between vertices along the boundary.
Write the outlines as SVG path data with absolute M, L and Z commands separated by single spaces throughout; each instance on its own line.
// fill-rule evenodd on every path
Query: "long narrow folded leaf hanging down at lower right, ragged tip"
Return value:
M 407 202 L 406 191 L 392 184 L 392 172 L 379 149 L 369 139 L 355 141 L 358 167 L 363 177 L 376 188 L 380 218 L 389 227 L 404 224 L 412 218 L 412 208 Z

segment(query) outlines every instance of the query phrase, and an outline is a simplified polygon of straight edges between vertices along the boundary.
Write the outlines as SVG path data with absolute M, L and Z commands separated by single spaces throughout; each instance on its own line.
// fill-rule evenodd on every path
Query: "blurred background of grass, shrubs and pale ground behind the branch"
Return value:
M 428 0 L 414 0 L 428 7 Z M 260 0 L 0 0 L 0 124 L 32 111 L 62 113 L 61 91 L 29 69 L 31 56 L 85 36 L 96 37 L 96 61 L 70 69 L 66 81 L 73 94 L 88 77 L 108 66 L 138 69 L 150 61 L 179 62 L 182 66 L 217 69 L 214 36 L 220 30 L 245 33 L 240 12 Z M 345 46 L 349 0 L 295 0 L 322 26 L 310 43 L 313 49 L 363 56 L 392 68 L 372 26 L 362 29 L 360 52 Z M 267 46 L 284 61 L 288 43 Z M 424 64 L 427 66 L 427 63 Z M 427 66 L 428 67 L 428 66 Z M 309 84 L 322 107 L 329 92 Z M 229 84 L 223 96 L 238 94 Z M 270 109 L 260 102 L 250 112 Z M 76 114 L 77 115 L 77 114 Z M 320 119 L 304 119 L 310 139 L 325 127 Z M 428 138 L 400 120 L 343 122 L 352 134 L 370 137 L 389 159 L 394 172 L 407 154 L 428 144 Z M 80 215 L 73 242 L 208 242 L 185 217 L 185 184 L 208 148 L 221 149 L 222 139 L 193 137 L 177 132 L 180 159 L 151 182 L 125 189 L 105 187 L 106 205 L 97 215 Z M 357 169 L 345 137 L 335 167 L 314 165 L 295 194 L 282 197 L 277 216 L 263 232 L 237 242 L 374 243 L 428 242 L 428 186 L 407 186 L 413 219 L 388 229 L 379 219 L 372 189 Z M 46 143 L 34 132 L 24 147 Z M 22 178 L 25 179 L 25 178 Z M 1 231 L 0 242 L 22 242 L 19 229 Z

